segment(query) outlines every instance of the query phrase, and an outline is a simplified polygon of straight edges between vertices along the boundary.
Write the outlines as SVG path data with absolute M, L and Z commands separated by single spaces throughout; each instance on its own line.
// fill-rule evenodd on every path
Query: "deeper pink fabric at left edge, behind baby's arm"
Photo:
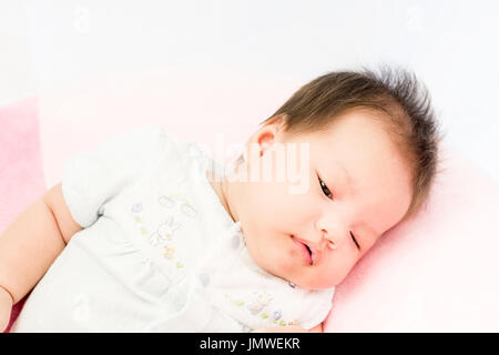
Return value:
M 40 152 L 38 99 L 31 98 L 0 108 L 0 233 L 40 197 L 45 181 Z M 14 305 L 9 327 L 23 301 Z

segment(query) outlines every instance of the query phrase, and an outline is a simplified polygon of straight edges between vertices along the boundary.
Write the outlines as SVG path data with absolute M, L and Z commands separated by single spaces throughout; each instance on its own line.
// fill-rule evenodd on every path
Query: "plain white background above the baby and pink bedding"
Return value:
M 446 139 L 499 182 L 498 19 L 483 0 L 0 0 L 0 104 L 152 68 L 305 83 L 395 63 L 430 89 Z

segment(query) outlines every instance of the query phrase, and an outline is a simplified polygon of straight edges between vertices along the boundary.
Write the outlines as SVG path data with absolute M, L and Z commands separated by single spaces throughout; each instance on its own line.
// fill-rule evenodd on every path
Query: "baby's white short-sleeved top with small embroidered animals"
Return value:
M 83 230 L 32 291 L 12 332 L 248 332 L 327 315 L 308 291 L 254 263 L 194 142 L 146 125 L 80 152 L 62 191 Z

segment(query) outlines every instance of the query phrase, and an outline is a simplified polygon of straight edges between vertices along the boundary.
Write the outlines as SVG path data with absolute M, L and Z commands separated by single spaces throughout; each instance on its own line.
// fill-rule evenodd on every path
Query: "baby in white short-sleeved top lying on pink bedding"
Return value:
M 391 70 L 313 80 L 227 166 L 161 126 L 114 136 L 1 235 L 0 328 L 31 291 L 14 332 L 322 332 L 335 286 L 428 196 L 439 140 Z

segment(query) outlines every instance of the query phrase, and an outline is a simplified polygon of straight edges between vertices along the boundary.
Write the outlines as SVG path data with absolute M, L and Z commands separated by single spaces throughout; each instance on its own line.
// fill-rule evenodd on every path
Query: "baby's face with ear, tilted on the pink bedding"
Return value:
M 294 176 L 285 173 L 278 181 L 274 172 L 271 181 L 237 184 L 231 209 L 262 268 L 306 288 L 335 286 L 401 220 L 411 200 L 410 172 L 371 115 L 348 111 L 325 131 L 292 139 L 276 121 L 251 136 L 247 146 L 257 144 L 263 153 L 247 159 L 249 175 L 255 164 L 276 169 L 283 162 L 272 152 L 293 143 L 293 162 L 305 182 L 296 189 Z M 309 144 L 305 155 L 301 143 Z

